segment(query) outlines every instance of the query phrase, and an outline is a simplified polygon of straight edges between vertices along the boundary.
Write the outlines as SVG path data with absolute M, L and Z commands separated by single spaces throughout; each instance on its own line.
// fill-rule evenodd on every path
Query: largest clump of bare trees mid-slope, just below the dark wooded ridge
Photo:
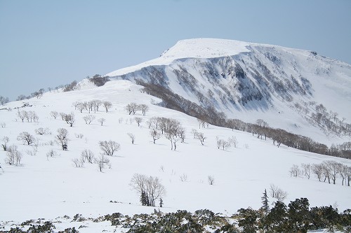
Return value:
M 171 150 L 176 150 L 178 141 L 185 141 L 185 128 L 178 120 L 154 117 L 147 121 L 147 125 L 154 143 L 164 136 L 171 142 Z

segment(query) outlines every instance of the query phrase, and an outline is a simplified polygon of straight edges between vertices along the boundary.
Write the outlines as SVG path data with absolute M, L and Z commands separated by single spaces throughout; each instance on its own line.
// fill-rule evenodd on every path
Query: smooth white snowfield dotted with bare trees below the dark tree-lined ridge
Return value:
M 139 196 L 129 185 L 136 173 L 161 178 L 166 196 L 163 197 L 164 207 L 157 209 L 163 212 L 210 209 L 215 213 L 231 214 L 248 206 L 258 209 L 260 197 L 265 189 L 269 190 L 270 184 L 288 192 L 286 204 L 296 198 L 307 197 L 310 206 L 333 205 L 338 206 L 340 211 L 350 208 L 351 190 L 341 185 L 340 178 L 336 185 L 331 185 L 319 182 L 314 176 L 310 179 L 293 178 L 289 174 L 293 164 L 333 160 L 351 166 L 350 160 L 307 153 L 283 145 L 278 148 L 269 139 L 257 139 L 252 134 L 231 129 L 211 125 L 199 129 L 197 119 L 152 105 L 159 100 L 141 93 L 139 89 L 129 81 L 117 80 L 103 87 L 46 93 L 40 99 L 29 99 L 27 102 L 31 107 L 20 108 L 20 111 L 35 111 L 39 122 L 22 122 L 17 117 L 18 109 L 15 107 L 22 106 L 22 102 L 6 104 L 5 107 L 12 110 L 0 111 L 0 123 L 6 125 L 0 128 L 0 138 L 8 136 L 8 145 L 17 145 L 23 158 L 20 166 L 10 166 L 4 162 L 6 152 L 0 151 L 0 221 L 21 223 L 29 219 L 54 219 L 65 215 L 72 218 L 77 213 L 91 218 L 115 212 L 124 215 L 152 213 L 154 208 L 141 206 Z M 72 103 L 93 99 L 111 101 L 113 106 L 108 113 L 101 107 L 98 112 L 91 113 L 95 120 L 87 125 L 83 117 L 88 112 L 74 110 Z M 147 104 L 150 110 L 145 116 L 140 112 L 128 115 L 124 107 L 131 102 Z M 76 122 L 69 127 L 60 116 L 54 119 L 51 111 L 74 112 Z M 135 116 L 143 118 L 140 127 L 133 121 Z M 171 150 L 170 141 L 164 137 L 156 144 L 152 142 L 146 121 L 155 116 L 179 120 L 185 127 L 185 143 L 178 142 L 176 151 Z M 106 119 L 103 126 L 98 118 Z M 48 127 L 51 134 L 35 134 L 34 130 L 39 127 Z M 61 127 L 69 132 L 67 151 L 61 150 L 57 143 L 51 143 Z M 192 129 L 204 133 L 207 138 L 204 146 L 193 138 Z M 29 132 L 38 139 L 37 155 L 28 155 L 26 151 L 33 150 L 33 147 L 17 141 L 21 132 Z M 135 135 L 134 144 L 128 133 Z M 79 134 L 84 135 L 82 139 L 76 136 Z M 227 139 L 232 136 L 238 141 L 237 148 L 218 150 L 216 137 Z M 92 150 L 98 157 L 102 152 L 98 142 L 104 140 L 117 141 L 121 145 L 116 156 L 109 157 L 111 169 L 100 172 L 97 164 L 88 163 L 81 168 L 74 166 L 72 160 L 80 158 L 84 149 Z M 47 157 L 51 149 L 59 155 Z M 180 181 L 180 176 L 186 176 L 187 181 Z M 208 184 L 208 176 L 215 178 L 214 185 Z M 88 227 L 81 232 L 96 230 Z

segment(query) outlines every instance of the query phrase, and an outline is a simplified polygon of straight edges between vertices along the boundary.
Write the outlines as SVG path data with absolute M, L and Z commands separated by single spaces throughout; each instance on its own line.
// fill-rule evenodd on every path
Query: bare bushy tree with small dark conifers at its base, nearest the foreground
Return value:
M 158 177 L 134 174 L 130 185 L 138 192 L 142 204 L 146 206 L 155 206 L 157 199 L 166 195 L 166 189 Z

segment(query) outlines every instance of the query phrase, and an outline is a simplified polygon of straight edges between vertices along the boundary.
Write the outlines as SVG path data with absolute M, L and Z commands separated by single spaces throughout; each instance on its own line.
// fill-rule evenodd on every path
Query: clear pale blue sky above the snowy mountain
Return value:
M 0 0 L 0 95 L 159 57 L 186 38 L 317 51 L 351 64 L 350 0 Z

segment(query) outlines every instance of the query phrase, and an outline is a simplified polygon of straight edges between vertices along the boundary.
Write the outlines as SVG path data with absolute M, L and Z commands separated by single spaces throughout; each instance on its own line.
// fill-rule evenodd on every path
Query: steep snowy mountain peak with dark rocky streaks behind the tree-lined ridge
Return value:
M 351 66 L 317 52 L 190 39 L 107 76 L 161 85 L 227 118 L 263 119 L 329 146 L 350 141 Z

